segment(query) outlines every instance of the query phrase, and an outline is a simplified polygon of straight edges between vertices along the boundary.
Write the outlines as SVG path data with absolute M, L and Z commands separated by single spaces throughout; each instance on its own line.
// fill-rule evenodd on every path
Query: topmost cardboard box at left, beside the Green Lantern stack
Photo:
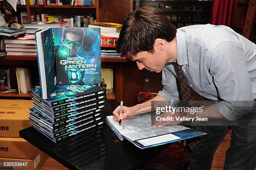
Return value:
M 19 131 L 31 127 L 28 109 L 33 100 L 0 99 L 0 137 L 20 137 Z

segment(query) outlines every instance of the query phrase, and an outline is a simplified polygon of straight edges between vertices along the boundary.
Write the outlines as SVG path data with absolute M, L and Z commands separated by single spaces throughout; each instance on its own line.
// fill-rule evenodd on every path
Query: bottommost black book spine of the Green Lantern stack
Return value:
M 56 142 L 59 142 L 59 141 L 61 141 L 61 140 L 67 139 L 67 138 L 69 138 L 69 137 L 71 137 L 71 136 L 74 136 L 74 135 L 76 135 L 76 134 L 80 134 L 80 133 L 82 133 L 82 132 L 86 132 L 86 131 L 88 131 L 88 130 L 94 128 L 94 127 L 98 127 L 98 126 L 100 126 L 100 125 L 103 124 L 103 123 L 104 123 L 104 120 L 101 120 L 101 121 L 99 121 L 99 122 L 95 122 L 94 124 L 90 124 L 90 125 L 88 125 L 88 126 L 86 126 L 86 127 L 79 128 L 79 129 L 77 129 L 77 131 L 75 131 L 75 132 L 69 132 L 69 133 L 67 133 L 67 134 L 64 134 L 64 135 L 61 135 L 61 136 L 59 136 L 59 137 L 56 137 L 55 140 L 56 140 Z

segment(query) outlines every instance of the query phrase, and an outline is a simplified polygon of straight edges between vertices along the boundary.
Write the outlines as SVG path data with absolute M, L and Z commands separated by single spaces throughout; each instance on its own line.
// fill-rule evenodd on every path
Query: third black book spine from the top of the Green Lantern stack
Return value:
M 107 103 L 107 100 L 103 99 L 103 100 L 100 100 L 100 101 L 90 102 L 90 103 L 87 103 L 87 104 L 83 104 L 83 105 L 75 106 L 75 107 L 70 107 L 68 109 L 64 109 L 64 110 L 60 110 L 60 111 L 52 112 L 52 113 L 53 113 L 54 117 L 56 117 L 56 116 L 61 116 L 63 114 L 68 114 L 70 112 L 86 109 L 88 107 L 94 107 L 94 106 L 97 106 L 99 104 L 104 104 L 105 105 L 106 103 Z

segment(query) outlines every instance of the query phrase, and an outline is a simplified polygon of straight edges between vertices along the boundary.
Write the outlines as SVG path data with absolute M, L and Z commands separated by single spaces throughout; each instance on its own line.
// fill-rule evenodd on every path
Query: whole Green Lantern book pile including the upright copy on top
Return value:
M 45 28 L 35 34 L 41 86 L 32 89 L 33 127 L 59 142 L 101 126 L 107 98 L 106 89 L 95 85 L 101 82 L 100 29 Z

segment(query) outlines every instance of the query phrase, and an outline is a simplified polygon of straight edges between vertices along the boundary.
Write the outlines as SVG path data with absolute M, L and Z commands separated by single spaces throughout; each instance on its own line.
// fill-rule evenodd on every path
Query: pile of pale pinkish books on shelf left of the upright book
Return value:
M 34 35 L 26 35 L 16 39 L 5 40 L 7 55 L 36 56 L 36 40 Z

